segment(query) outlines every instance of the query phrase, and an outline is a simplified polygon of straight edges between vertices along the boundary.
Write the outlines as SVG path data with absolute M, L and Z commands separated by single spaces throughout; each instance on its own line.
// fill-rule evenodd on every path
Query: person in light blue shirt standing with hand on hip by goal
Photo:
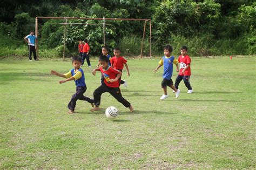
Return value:
M 35 34 L 34 31 L 30 31 L 30 35 L 28 35 L 24 38 L 25 42 L 28 43 L 28 45 L 29 45 L 29 61 L 32 61 L 32 58 L 31 58 L 32 52 L 33 52 L 33 56 L 34 56 L 34 61 L 37 60 L 37 57 L 36 57 L 37 37 L 34 34 Z

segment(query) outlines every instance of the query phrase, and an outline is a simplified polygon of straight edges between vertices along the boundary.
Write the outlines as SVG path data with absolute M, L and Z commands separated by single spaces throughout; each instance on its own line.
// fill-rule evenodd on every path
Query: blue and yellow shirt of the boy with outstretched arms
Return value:
M 72 69 L 68 73 L 64 74 L 64 76 L 66 78 L 70 78 L 70 77 L 75 78 L 74 81 L 76 83 L 76 86 L 86 87 L 83 69 L 78 69 L 76 72 L 75 72 L 75 69 Z

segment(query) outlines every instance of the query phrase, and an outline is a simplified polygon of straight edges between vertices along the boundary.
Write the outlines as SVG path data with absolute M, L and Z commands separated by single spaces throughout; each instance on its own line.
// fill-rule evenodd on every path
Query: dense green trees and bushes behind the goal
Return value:
M 165 44 L 178 53 L 187 45 L 190 55 L 250 55 L 256 50 L 256 3 L 252 1 L 3 1 L 0 33 L 4 37 L 22 39 L 35 29 L 36 16 L 88 18 L 152 19 L 153 55 L 159 55 Z M 64 42 L 64 19 L 39 19 L 39 45 L 43 49 L 61 48 Z M 92 54 L 99 55 L 103 45 L 101 20 L 67 20 L 68 23 L 99 25 L 67 25 L 68 55 L 76 55 L 79 39 L 89 39 Z M 110 50 L 121 46 L 125 55 L 138 55 L 144 22 L 106 21 L 106 44 Z M 144 46 L 149 46 L 149 27 Z M 136 39 L 134 39 L 136 38 Z M 126 43 L 125 43 L 126 42 Z M 136 43 L 133 43 L 136 42 Z M 12 44 L 12 43 L 10 43 Z M 10 46 L 6 43 L 5 46 Z M 15 44 L 17 47 L 22 43 Z M 131 49 L 132 46 L 132 49 Z M 135 48 L 135 49 L 134 49 Z M 148 48 L 143 51 L 149 55 Z M 60 53 L 61 54 L 61 53 Z M 44 53 L 41 52 L 41 57 Z M 56 56 L 59 56 L 56 53 Z M 60 55 L 61 56 L 61 55 Z

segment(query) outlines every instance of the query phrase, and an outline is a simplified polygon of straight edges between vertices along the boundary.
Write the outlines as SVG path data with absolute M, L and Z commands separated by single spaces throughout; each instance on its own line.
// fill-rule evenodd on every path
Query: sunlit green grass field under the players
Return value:
M 158 60 L 127 63 L 121 89 L 135 112 L 104 93 L 102 111 L 78 101 L 76 114 L 66 113 L 75 83 L 50 75 L 68 72 L 70 61 L 0 61 L 0 169 L 255 169 L 255 57 L 192 58 L 194 93 L 181 81 L 180 97 L 168 89 L 164 101 Z M 86 67 L 85 77 L 92 97 L 100 74 Z M 119 109 L 116 119 L 105 117 L 108 106 Z

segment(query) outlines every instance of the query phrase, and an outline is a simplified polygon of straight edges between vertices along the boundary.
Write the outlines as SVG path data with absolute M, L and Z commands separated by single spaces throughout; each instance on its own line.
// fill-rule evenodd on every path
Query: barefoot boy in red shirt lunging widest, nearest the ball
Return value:
M 95 100 L 95 107 L 91 109 L 91 112 L 98 111 L 100 105 L 100 97 L 102 93 L 109 92 L 117 101 L 122 103 L 125 107 L 129 107 L 130 112 L 133 112 L 133 106 L 129 103 L 129 101 L 125 100 L 121 94 L 119 88 L 119 78 L 122 75 L 122 72 L 113 69 L 107 64 L 106 56 L 99 56 L 99 69 L 92 70 L 92 74 L 95 75 L 96 71 L 102 72 L 104 76 L 104 83 L 100 85 L 94 92 L 93 97 Z

